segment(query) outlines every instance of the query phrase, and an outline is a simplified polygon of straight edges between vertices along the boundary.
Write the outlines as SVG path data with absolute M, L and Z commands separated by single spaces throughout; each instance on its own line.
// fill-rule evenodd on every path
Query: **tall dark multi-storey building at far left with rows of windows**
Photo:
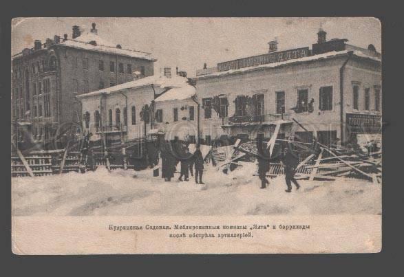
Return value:
M 73 26 L 67 34 L 36 40 L 32 49 L 12 56 L 13 141 L 58 147 L 81 129 L 81 104 L 76 96 L 152 76 L 151 54 L 109 43 L 96 24 L 87 34 Z M 71 136 L 68 138 L 68 136 Z

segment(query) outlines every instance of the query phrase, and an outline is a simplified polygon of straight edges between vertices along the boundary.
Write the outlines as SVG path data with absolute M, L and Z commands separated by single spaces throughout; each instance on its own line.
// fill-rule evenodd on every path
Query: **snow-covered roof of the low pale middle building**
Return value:
M 86 97 L 91 97 L 91 96 L 98 96 L 100 94 L 110 94 L 118 91 L 122 91 L 123 89 L 133 89 L 137 87 L 145 87 L 147 85 L 157 85 L 160 88 L 174 88 L 174 87 L 184 87 L 187 86 L 187 78 L 181 77 L 181 76 L 173 76 L 172 78 L 167 78 L 166 76 L 159 76 L 159 75 L 153 75 L 153 76 L 147 76 L 145 78 L 140 78 L 137 80 L 133 80 L 130 82 L 124 82 L 123 84 L 116 85 L 113 87 L 106 87 L 105 89 L 99 89 L 97 91 L 92 91 L 89 93 L 84 93 L 79 96 L 76 96 L 77 98 L 86 98 Z

